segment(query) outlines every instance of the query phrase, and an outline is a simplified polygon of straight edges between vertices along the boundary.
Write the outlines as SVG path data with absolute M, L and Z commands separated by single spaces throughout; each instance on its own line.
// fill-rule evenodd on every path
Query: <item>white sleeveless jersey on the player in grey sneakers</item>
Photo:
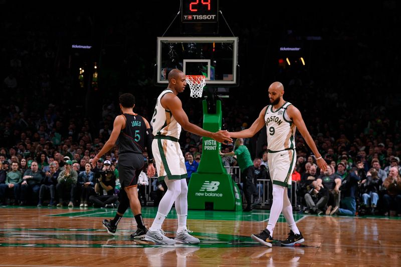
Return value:
M 164 109 L 160 104 L 160 99 L 165 95 L 173 93 L 170 89 L 165 89 L 156 101 L 153 117 L 150 124 L 153 126 L 153 135 L 170 136 L 179 139 L 181 125 L 174 119 L 171 111 Z

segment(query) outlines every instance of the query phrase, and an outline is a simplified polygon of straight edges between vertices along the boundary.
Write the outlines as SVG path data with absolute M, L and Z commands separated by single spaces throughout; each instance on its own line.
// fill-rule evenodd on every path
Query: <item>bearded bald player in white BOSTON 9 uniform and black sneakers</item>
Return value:
M 305 241 L 295 223 L 291 202 L 287 194 L 287 188 L 291 188 L 291 174 L 296 163 L 295 131 L 297 127 L 315 154 L 319 168 L 325 171 L 327 166 L 306 129 L 301 112 L 291 103 L 284 101 L 283 94 L 283 85 L 280 82 L 272 83 L 269 87 L 271 105 L 262 109 L 259 117 L 250 128 L 240 132 L 230 132 L 230 136 L 233 138 L 249 138 L 266 125 L 268 165 L 273 180 L 273 204 L 266 229 L 259 234 L 252 234 L 251 237 L 267 246 L 272 246 L 273 230 L 281 212 L 283 212 L 290 226 L 288 238 L 281 244 L 294 245 Z

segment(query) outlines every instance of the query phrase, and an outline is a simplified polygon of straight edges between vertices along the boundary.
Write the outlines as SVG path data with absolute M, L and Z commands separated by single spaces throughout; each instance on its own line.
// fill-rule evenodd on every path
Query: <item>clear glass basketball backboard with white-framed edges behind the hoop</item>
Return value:
M 168 73 L 205 75 L 207 85 L 238 85 L 237 37 L 158 37 L 156 76 L 167 84 Z

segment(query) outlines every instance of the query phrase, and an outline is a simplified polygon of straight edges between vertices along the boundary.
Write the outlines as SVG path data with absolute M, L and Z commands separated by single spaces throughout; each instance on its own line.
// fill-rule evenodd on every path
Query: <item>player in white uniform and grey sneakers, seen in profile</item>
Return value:
M 191 236 L 186 228 L 188 187 L 185 161 L 178 143 L 181 126 L 188 132 L 210 137 L 218 142 L 233 142 L 227 131 L 220 130 L 212 133 L 188 121 L 182 109 L 181 100 L 177 97 L 178 93 L 184 91 L 185 86 L 185 74 L 177 69 L 171 70 L 168 74 L 168 87 L 157 98 L 150 122 L 153 126 L 152 151 L 158 179 L 164 179 L 168 189 L 160 200 L 156 218 L 146 233 L 145 240 L 159 244 L 174 244 L 175 242 L 198 244 L 200 242 L 198 238 Z M 174 201 L 178 229 L 175 239 L 172 239 L 164 235 L 161 225 Z

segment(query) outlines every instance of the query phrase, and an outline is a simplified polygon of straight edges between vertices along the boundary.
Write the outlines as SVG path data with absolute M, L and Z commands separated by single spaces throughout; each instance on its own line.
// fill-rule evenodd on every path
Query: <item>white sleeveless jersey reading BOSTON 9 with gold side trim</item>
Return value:
M 296 126 L 287 114 L 287 107 L 291 105 L 285 102 L 283 106 L 273 111 L 273 106 L 266 108 L 265 124 L 267 130 L 267 149 L 269 153 L 295 148 Z

